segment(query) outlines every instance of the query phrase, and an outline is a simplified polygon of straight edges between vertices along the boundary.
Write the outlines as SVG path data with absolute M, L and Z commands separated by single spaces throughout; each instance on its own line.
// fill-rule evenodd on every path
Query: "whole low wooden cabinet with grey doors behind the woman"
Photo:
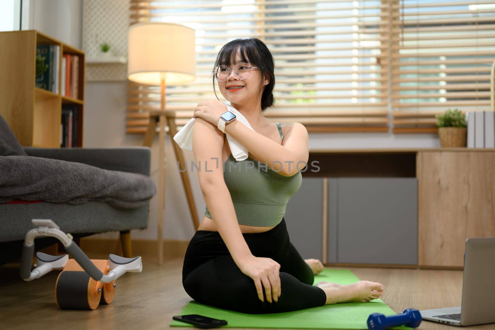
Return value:
M 313 161 L 285 216 L 304 258 L 462 268 L 466 238 L 495 236 L 495 149 L 313 149 Z

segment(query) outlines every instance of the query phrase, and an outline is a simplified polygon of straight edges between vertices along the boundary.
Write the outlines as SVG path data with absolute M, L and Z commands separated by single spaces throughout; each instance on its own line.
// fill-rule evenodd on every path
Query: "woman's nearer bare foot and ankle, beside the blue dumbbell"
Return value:
M 320 282 L 316 284 L 316 286 L 325 291 L 327 295 L 327 305 L 339 302 L 370 301 L 379 298 L 384 291 L 383 284 L 369 281 L 359 281 L 347 285 Z

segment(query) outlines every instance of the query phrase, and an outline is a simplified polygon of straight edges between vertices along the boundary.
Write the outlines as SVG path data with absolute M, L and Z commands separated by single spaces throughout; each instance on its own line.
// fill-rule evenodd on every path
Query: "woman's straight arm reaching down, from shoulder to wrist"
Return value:
M 241 259 L 252 254 L 242 235 L 232 197 L 223 179 L 223 142 L 224 134 L 220 130 L 204 119 L 196 118 L 193 153 L 199 168 L 199 186 L 213 223 L 239 266 Z

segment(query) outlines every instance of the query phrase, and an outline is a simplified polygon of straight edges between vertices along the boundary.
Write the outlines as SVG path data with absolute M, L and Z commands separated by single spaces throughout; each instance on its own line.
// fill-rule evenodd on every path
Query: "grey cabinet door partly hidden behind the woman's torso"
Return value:
M 302 178 L 284 219 L 292 244 L 304 259 L 322 258 L 323 178 Z

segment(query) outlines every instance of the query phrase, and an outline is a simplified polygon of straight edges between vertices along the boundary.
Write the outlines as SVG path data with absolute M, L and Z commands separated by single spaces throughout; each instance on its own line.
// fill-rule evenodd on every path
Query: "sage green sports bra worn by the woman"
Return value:
M 276 124 L 283 141 L 280 124 Z M 250 157 L 236 161 L 232 154 L 223 165 L 223 178 L 234 202 L 239 224 L 260 227 L 278 225 L 285 215 L 287 202 L 301 186 L 301 172 L 285 177 Z M 204 215 L 211 219 L 208 206 Z

